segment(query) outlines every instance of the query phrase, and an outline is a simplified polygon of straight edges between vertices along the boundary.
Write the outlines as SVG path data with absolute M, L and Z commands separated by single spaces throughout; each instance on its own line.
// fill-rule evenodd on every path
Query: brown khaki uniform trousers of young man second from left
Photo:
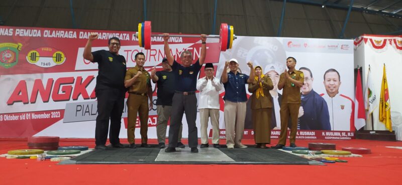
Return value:
M 147 143 L 148 114 L 149 114 L 148 96 L 129 94 L 129 98 L 127 99 L 127 108 L 128 108 L 127 140 L 129 141 L 130 144 L 134 144 L 135 142 L 134 130 L 138 113 L 141 125 L 140 128 L 141 143 Z

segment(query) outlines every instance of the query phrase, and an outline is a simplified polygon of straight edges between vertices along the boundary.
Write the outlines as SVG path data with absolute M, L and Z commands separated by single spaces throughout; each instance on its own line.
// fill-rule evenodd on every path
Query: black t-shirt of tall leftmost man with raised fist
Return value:
M 91 62 L 98 64 L 95 90 L 109 88 L 125 90 L 126 59 L 122 55 L 115 55 L 106 50 L 92 52 L 92 56 Z

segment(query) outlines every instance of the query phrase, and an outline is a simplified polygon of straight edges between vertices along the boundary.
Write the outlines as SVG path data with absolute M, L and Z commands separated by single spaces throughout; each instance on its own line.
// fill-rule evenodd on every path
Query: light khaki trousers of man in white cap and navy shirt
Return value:
M 246 119 L 246 103 L 225 101 L 224 117 L 227 146 L 241 144 Z

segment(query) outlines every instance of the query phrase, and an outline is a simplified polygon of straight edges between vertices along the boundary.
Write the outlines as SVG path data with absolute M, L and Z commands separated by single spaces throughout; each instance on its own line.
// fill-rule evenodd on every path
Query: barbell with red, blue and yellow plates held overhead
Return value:
M 152 37 L 163 37 L 161 34 L 151 34 L 151 22 L 145 21 L 138 24 L 138 32 L 136 37 L 138 38 L 138 45 L 145 48 L 146 50 L 151 49 L 151 36 Z M 169 35 L 170 37 L 199 37 L 197 35 Z M 218 38 L 220 51 L 226 51 L 231 49 L 233 45 L 233 40 L 237 39 L 234 34 L 233 26 L 226 23 L 221 24 L 221 28 L 218 35 L 209 35 L 207 38 Z

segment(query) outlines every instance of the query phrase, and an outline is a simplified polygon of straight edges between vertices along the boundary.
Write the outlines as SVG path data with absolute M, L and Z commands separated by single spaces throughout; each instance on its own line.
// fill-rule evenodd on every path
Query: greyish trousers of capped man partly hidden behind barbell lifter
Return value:
M 156 105 L 156 113 L 158 114 L 158 121 L 156 122 L 156 136 L 158 137 L 158 143 L 165 143 L 166 141 L 166 127 L 167 121 L 170 119 L 170 112 L 172 106 L 168 105 Z M 179 138 L 177 142 L 181 142 L 181 131 L 183 124 L 180 125 Z

